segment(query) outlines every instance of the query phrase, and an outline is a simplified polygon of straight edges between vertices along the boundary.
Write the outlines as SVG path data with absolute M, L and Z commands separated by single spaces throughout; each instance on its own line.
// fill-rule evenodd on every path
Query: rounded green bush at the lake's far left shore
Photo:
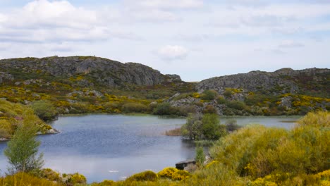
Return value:
M 55 107 L 49 101 L 34 101 L 31 107 L 42 120 L 54 120 L 58 115 Z

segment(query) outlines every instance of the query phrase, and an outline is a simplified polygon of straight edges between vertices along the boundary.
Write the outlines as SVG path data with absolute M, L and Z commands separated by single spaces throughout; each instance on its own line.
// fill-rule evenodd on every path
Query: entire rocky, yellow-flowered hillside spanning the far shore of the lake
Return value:
M 94 56 L 11 58 L 0 60 L 0 85 L 0 98 L 26 105 L 47 101 L 60 114 L 272 116 L 330 108 L 327 68 L 252 71 L 193 83 Z

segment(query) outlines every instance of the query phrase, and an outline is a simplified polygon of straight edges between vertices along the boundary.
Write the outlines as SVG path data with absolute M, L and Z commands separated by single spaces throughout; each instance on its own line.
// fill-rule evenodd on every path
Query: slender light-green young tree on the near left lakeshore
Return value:
M 25 118 L 25 120 L 4 150 L 8 163 L 11 164 L 11 167 L 8 168 L 10 173 L 36 171 L 44 164 L 43 154 L 37 156 L 40 145 L 40 142 L 35 139 L 37 126 L 33 120 L 29 120 L 29 118 Z

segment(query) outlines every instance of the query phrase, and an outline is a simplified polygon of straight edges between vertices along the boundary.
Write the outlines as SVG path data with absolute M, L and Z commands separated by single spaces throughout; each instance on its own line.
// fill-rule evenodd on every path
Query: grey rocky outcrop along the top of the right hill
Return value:
M 197 84 L 197 89 L 202 92 L 205 89 L 214 89 L 223 94 L 226 87 L 244 89 L 245 91 L 269 91 L 271 93 L 285 94 L 297 93 L 302 89 L 313 89 L 317 85 L 330 90 L 330 69 L 309 68 L 305 70 L 293 70 L 282 68 L 273 73 L 252 71 L 236 75 L 225 75 L 202 80 Z M 309 85 L 309 86 L 307 86 Z

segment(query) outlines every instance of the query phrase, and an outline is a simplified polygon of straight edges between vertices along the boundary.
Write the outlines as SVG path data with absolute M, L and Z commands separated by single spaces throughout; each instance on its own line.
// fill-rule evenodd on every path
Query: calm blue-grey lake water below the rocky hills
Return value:
M 298 118 L 238 116 L 220 120 L 225 123 L 236 119 L 238 125 L 261 123 L 289 129 Z M 141 171 L 158 172 L 193 158 L 195 147 L 191 142 L 164 135 L 166 130 L 184 123 L 185 118 L 159 116 L 61 116 L 52 124 L 61 133 L 37 138 L 42 142 L 39 151 L 44 153 L 44 167 L 61 173 L 82 173 L 87 182 L 121 180 Z M 2 174 L 7 166 L 5 148 L 6 142 L 0 142 Z

